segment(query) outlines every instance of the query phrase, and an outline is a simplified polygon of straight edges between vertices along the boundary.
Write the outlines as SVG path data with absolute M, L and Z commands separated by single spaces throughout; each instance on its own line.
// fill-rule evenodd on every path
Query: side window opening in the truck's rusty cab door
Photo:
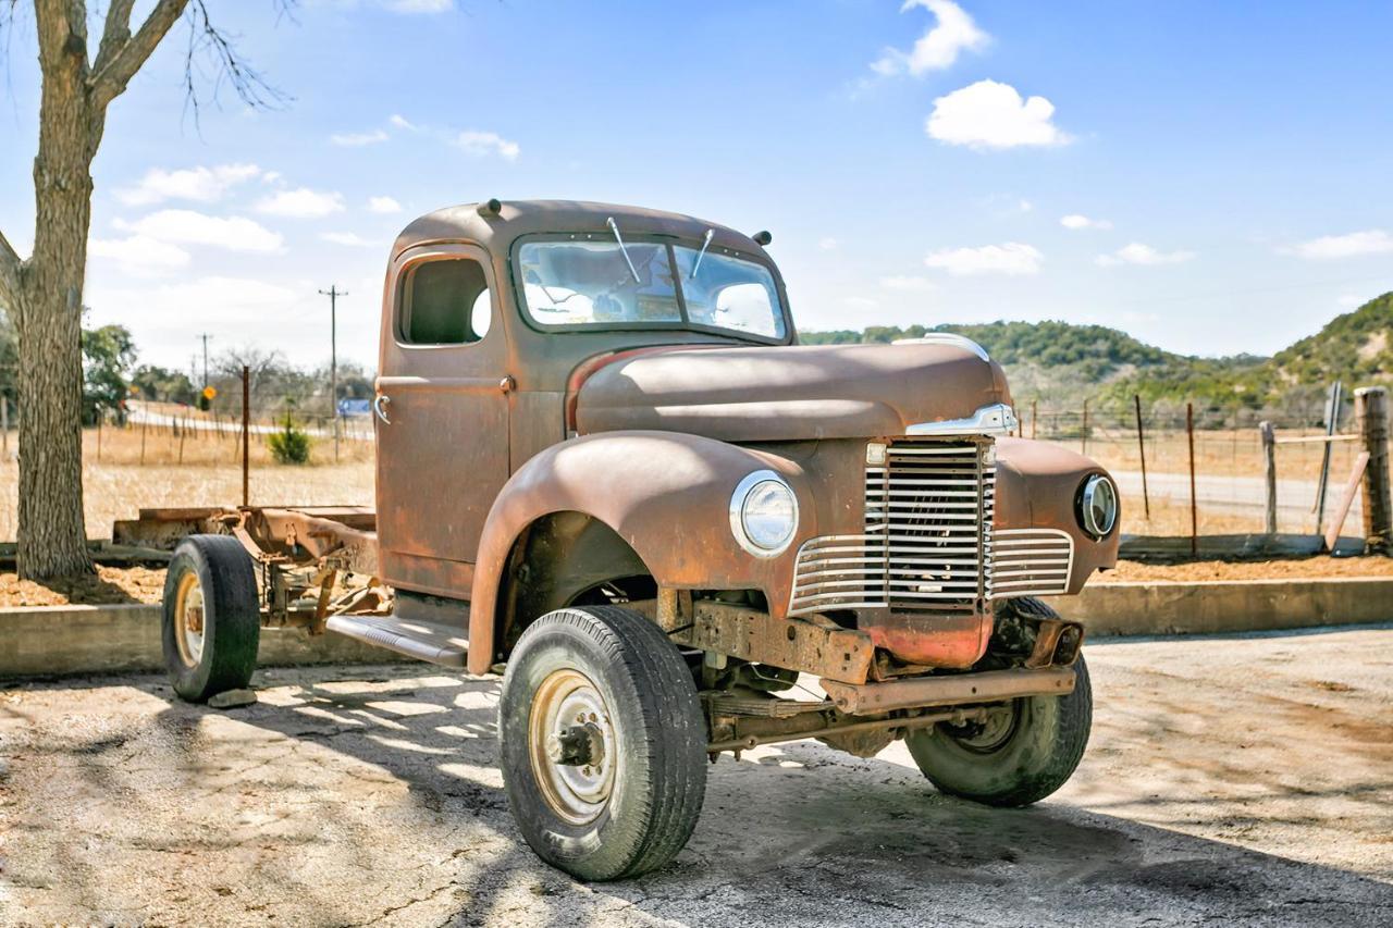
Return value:
M 398 334 L 407 344 L 478 341 L 493 315 L 483 268 L 469 258 L 412 268 L 403 280 L 398 307 Z

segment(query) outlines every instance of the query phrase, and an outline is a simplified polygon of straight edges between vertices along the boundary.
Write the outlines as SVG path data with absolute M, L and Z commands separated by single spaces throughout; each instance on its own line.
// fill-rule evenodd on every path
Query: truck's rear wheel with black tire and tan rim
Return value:
M 245 687 L 256 670 L 260 602 L 251 555 L 230 535 L 189 535 L 164 577 L 164 666 L 184 699 Z

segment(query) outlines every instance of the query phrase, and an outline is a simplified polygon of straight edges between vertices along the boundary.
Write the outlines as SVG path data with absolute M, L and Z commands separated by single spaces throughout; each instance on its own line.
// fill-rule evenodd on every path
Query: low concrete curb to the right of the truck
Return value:
M 1393 620 L 1393 578 L 1095 584 L 1046 596 L 1089 635 L 1276 631 Z

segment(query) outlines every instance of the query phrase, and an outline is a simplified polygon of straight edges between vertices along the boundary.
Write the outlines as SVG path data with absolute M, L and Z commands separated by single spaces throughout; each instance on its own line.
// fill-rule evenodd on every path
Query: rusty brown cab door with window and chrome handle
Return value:
M 373 411 L 383 580 L 468 599 L 483 521 L 508 478 L 497 281 L 474 245 L 408 251 L 389 274 Z

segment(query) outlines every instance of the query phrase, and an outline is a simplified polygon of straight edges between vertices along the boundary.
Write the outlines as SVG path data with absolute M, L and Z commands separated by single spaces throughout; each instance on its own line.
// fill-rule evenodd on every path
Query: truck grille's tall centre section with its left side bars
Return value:
M 988 442 L 903 442 L 865 472 L 865 534 L 804 542 L 790 614 L 975 609 L 992 589 L 996 468 Z

